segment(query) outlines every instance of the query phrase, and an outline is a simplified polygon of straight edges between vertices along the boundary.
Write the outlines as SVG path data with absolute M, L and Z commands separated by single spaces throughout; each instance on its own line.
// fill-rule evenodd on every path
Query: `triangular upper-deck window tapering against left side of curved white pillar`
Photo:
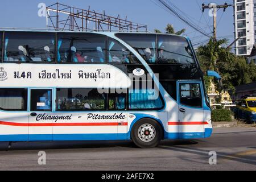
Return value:
M 109 38 L 109 63 L 138 64 L 139 60 L 129 49 Z

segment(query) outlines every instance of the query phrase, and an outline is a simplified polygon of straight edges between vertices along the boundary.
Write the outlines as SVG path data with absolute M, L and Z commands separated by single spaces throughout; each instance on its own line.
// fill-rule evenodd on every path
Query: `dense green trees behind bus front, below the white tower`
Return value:
M 235 86 L 256 81 L 256 66 L 247 64 L 245 57 L 230 52 L 225 47 L 227 42 L 227 39 L 215 42 L 211 38 L 207 44 L 197 48 L 197 57 L 204 72 L 214 70 L 220 73 L 223 88 L 234 93 Z

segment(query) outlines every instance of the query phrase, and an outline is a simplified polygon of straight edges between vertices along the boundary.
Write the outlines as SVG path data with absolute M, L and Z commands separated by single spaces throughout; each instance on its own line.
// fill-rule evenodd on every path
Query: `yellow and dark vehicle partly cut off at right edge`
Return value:
M 256 97 L 245 97 L 235 102 L 235 118 L 245 119 L 250 123 L 256 121 Z

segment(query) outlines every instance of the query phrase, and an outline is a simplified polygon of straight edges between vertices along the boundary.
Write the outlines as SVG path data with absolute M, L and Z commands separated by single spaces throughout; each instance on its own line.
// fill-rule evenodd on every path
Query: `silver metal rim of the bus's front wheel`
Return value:
M 138 129 L 138 137 L 143 142 L 151 142 L 155 138 L 155 127 L 150 124 L 143 124 Z

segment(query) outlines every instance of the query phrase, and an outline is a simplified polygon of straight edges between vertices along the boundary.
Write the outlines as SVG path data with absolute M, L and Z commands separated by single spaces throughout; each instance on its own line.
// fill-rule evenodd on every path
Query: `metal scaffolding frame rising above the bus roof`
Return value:
M 133 23 L 125 19 L 96 13 L 94 10 L 79 9 L 76 7 L 55 3 L 46 8 L 47 28 L 57 31 L 147 31 L 147 26 Z M 90 24 L 93 23 L 93 28 Z

